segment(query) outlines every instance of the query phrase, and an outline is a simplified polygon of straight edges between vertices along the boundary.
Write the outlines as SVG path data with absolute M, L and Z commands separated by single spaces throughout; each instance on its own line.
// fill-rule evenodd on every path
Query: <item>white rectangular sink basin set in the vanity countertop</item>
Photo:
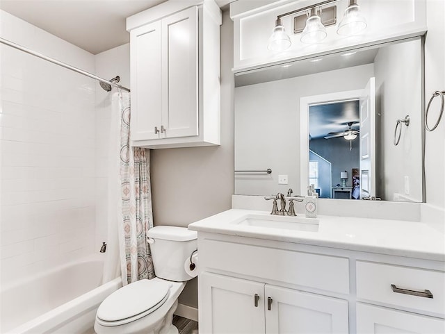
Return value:
M 232 224 L 269 228 L 284 228 L 286 230 L 318 232 L 318 219 L 275 215 L 245 215 Z

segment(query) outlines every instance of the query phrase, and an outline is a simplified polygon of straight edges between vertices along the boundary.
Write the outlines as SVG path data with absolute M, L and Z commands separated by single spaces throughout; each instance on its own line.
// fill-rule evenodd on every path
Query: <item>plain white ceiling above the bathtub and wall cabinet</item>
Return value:
M 0 9 L 97 54 L 128 43 L 127 17 L 164 1 L 0 0 Z M 223 7 L 232 1 L 216 0 L 216 3 Z

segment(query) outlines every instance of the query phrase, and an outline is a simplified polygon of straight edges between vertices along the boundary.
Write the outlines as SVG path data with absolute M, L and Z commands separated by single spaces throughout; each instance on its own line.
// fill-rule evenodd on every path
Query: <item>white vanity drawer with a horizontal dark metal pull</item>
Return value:
M 357 299 L 445 315 L 445 273 L 357 261 Z

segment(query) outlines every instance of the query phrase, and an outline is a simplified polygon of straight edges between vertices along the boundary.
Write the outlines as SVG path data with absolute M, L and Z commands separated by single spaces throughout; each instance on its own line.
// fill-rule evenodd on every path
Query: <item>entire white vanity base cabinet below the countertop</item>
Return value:
M 442 261 L 197 231 L 200 333 L 445 333 Z

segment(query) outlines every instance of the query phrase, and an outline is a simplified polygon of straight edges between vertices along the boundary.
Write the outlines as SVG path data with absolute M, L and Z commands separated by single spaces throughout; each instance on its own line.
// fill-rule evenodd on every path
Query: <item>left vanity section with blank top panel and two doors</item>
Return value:
M 348 333 L 347 258 L 245 241 L 198 233 L 200 333 Z

